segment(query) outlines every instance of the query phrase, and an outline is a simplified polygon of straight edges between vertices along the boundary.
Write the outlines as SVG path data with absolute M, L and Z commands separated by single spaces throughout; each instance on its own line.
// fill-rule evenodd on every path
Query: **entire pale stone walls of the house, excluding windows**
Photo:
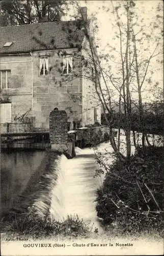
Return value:
M 63 52 L 73 56 L 70 75 L 62 73 Z M 39 74 L 39 56 L 48 56 L 48 75 Z M 1 56 L 1 70 L 11 70 L 11 88 L 3 89 L 1 94 L 3 98 L 10 97 L 12 122 L 16 115 L 21 116 L 31 109 L 28 116 L 34 117 L 34 126 L 48 129 L 49 113 L 57 107 L 66 111 L 67 121 L 71 122 L 70 130 L 73 129 L 73 121 L 80 126 L 94 123 L 94 104 L 89 97 L 93 95 L 93 90 L 89 90 L 92 84 L 81 77 L 83 67 L 78 49 Z M 97 120 L 100 121 L 99 115 Z

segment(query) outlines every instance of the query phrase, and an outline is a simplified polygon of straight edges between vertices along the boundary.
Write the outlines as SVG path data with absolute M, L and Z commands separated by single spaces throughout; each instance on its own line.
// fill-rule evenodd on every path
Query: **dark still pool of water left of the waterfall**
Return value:
M 8 214 L 46 152 L 1 152 L 1 217 Z

